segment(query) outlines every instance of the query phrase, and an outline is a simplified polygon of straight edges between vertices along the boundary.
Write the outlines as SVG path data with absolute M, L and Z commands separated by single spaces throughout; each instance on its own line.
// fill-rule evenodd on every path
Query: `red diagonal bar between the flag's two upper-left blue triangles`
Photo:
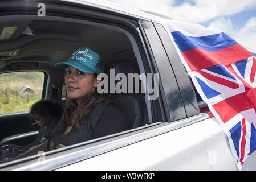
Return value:
M 238 84 L 232 82 L 232 81 L 229 81 L 229 80 L 226 80 L 224 78 L 221 78 L 221 77 L 217 77 L 217 76 L 214 76 L 212 74 L 209 74 L 209 73 L 206 73 L 206 72 L 199 72 L 202 76 L 204 76 L 206 79 L 208 80 L 211 80 L 211 81 L 214 81 L 214 82 L 217 82 L 218 84 L 221 84 L 221 85 L 224 85 L 224 86 L 227 86 L 227 87 L 230 87 L 232 89 L 237 89 L 239 87 Z

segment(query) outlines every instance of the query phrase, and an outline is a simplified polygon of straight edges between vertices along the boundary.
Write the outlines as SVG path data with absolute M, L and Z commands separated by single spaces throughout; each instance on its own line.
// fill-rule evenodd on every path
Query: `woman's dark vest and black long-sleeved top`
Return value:
M 127 124 L 124 114 L 117 108 L 115 101 L 108 99 L 97 104 L 87 121 L 80 122 L 79 128 L 73 125 L 69 133 L 60 137 L 64 129 L 66 125 L 61 119 L 56 132 L 49 139 L 48 150 L 118 133 L 127 130 Z

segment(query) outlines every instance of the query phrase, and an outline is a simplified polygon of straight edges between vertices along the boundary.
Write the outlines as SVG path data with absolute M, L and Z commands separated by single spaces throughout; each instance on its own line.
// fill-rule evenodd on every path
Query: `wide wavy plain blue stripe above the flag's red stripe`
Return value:
M 193 37 L 186 36 L 180 31 L 172 32 L 172 36 L 181 52 L 189 51 L 194 48 L 200 48 L 205 51 L 218 51 L 226 47 L 238 44 L 224 33 Z

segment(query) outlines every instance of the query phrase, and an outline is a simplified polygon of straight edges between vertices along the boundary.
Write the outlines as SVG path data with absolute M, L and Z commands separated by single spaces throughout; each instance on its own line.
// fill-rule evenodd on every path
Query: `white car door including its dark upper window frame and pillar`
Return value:
M 207 113 L 200 113 L 192 88 L 188 88 L 188 92 L 181 92 L 184 89 L 186 91 L 188 77 L 186 75 L 186 81 L 181 85 L 181 78 L 177 78 L 174 73 L 176 68 L 170 64 L 151 19 L 133 16 L 134 14 L 120 11 L 117 7 L 115 9 L 90 2 L 79 3 L 83 6 L 78 6 L 75 2 L 48 3 L 46 9 L 50 9 L 47 11 L 47 18 L 59 20 L 72 17 L 73 21 L 89 19 L 91 22 L 110 24 L 125 30 L 125 34 L 132 40 L 133 52 L 141 70 L 149 74 L 159 74 L 159 85 L 156 85 L 159 86 L 159 97 L 145 100 L 148 125 L 58 150 L 40 152 L 29 158 L 2 164 L 1 169 L 213 169 L 209 160 L 212 158 L 209 158 L 209 152 L 206 151 L 205 135 L 200 130 L 199 123 L 214 122 L 214 119 Z M 35 5 L 27 5 L 26 11 L 35 13 Z

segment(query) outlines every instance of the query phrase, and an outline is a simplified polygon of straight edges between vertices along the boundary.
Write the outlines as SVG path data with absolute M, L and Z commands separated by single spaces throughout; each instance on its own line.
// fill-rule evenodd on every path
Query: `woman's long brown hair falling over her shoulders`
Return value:
M 94 106 L 109 98 L 109 94 L 100 94 L 97 90 L 90 96 L 84 98 L 78 106 L 75 100 L 67 98 L 66 108 L 63 113 L 63 119 L 67 126 L 72 126 L 73 123 L 79 128 L 80 122 L 88 120 Z

